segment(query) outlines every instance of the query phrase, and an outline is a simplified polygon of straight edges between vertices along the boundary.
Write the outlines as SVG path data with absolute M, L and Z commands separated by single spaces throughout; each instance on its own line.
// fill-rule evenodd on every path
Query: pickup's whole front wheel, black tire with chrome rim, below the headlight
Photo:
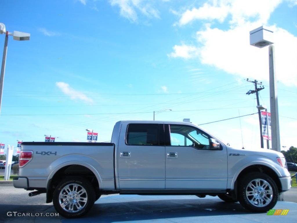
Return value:
M 278 196 L 276 183 L 265 173 L 252 172 L 239 181 L 238 200 L 249 211 L 269 211 L 277 203 Z

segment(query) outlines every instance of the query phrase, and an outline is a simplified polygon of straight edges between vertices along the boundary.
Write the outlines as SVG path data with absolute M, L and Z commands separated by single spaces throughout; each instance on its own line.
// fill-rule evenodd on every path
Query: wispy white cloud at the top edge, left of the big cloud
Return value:
M 148 0 L 110 0 L 111 6 L 120 7 L 121 16 L 129 19 L 131 22 L 138 21 L 137 11 L 149 18 L 159 18 L 159 11 L 148 2 Z

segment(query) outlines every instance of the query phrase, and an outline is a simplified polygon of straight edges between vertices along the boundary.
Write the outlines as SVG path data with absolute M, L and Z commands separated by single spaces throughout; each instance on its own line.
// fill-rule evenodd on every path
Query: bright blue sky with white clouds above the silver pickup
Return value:
M 255 7 L 257 5 L 258 7 Z M 0 141 L 98 142 L 118 120 L 202 124 L 269 109 L 268 48 L 249 31 L 274 31 L 281 145 L 297 131 L 297 1 L 68 0 L 2 1 L 6 29 L 29 32 L 8 42 Z M 4 35 L 0 36 L 0 46 Z M 121 114 L 119 114 L 121 113 Z M 289 118 L 287 118 L 289 117 Z M 202 125 L 234 147 L 260 146 L 257 115 Z M 297 145 L 294 145 L 297 146 Z

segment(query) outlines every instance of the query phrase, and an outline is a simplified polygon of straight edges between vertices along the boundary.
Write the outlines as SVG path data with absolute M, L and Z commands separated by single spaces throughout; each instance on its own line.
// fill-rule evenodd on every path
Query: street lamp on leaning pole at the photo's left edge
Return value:
M 13 31 L 13 33 L 6 31 L 5 25 L 0 23 L 0 34 L 5 33 L 5 41 L 4 41 L 4 50 L 3 50 L 3 58 L 2 58 L 2 66 L 1 66 L 1 76 L 0 76 L 0 114 L 1 114 L 1 102 L 2 102 L 2 92 L 3 92 L 3 84 L 4 84 L 4 73 L 5 73 L 5 64 L 6 64 L 6 55 L 7 55 L 7 43 L 8 36 L 13 36 L 14 40 L 30 40 L 30 33 Z

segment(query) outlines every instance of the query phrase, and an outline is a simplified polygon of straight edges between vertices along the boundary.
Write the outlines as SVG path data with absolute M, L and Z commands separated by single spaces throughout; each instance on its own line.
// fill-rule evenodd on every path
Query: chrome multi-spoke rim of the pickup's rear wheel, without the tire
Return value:
M 77 183 L 70 183 L 61 189 L 59 204 L 61 208 L 70 213 L 82 210 L 88 201 L 86 190 Z

